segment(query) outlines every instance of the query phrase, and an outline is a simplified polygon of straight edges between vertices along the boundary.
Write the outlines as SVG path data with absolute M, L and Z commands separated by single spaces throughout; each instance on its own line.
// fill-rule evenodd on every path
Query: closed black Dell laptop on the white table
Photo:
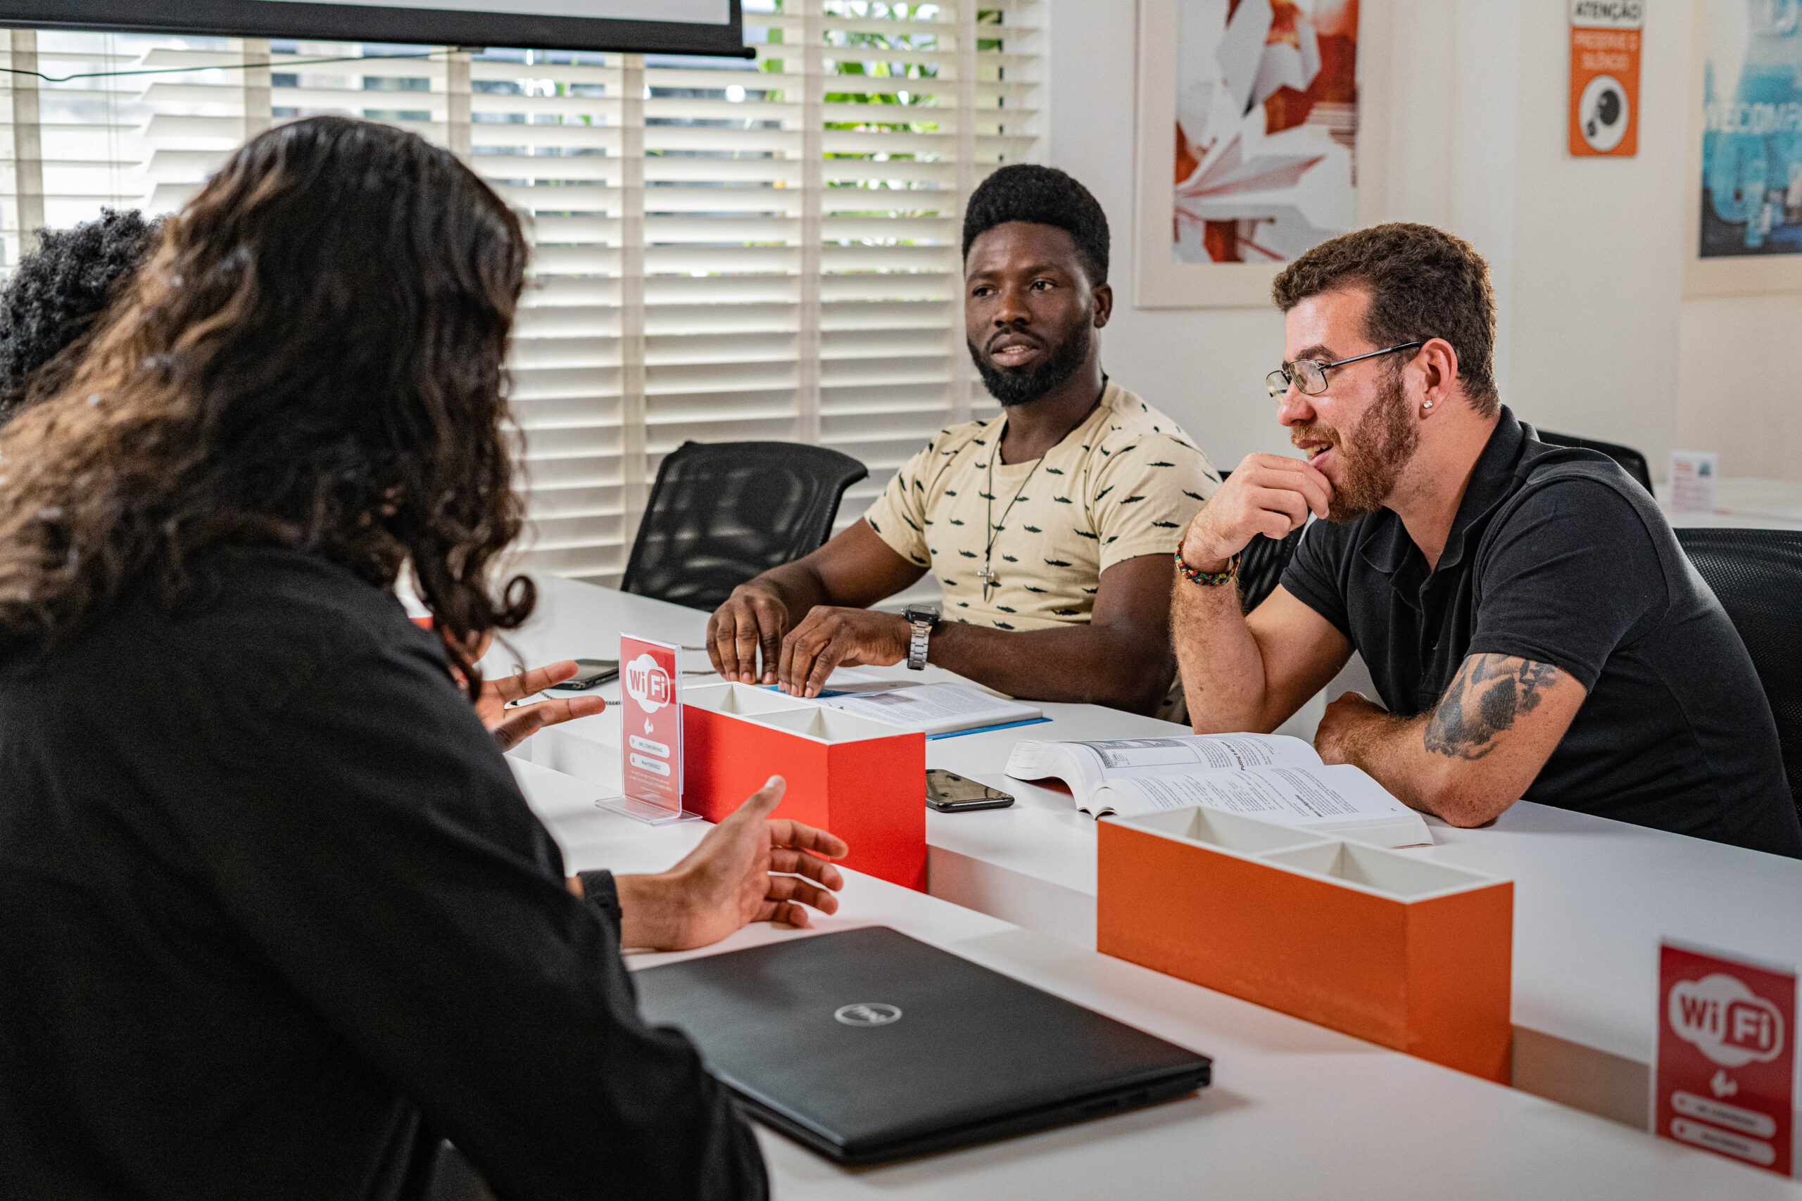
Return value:
M 1182 1097 L 1209 1059 L 883 926 L 634 972 L 778 1131 L 881 1163 Z

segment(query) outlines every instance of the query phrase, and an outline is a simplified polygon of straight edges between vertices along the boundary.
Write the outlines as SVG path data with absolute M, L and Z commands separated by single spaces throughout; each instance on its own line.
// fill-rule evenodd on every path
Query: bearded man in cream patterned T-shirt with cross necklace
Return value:
M 1024 164 L 984 180 L 964 218 L 964 326 L 1002 416 L 939 430 L 863 520 L 741 585 L 708 623 L 721 675 L 811 697 L 834 666 L 906 659 L 1033 700 L 1164 700 L 1169 556 L 1220 481 L 1101 371 L 1106 279 L 1088 189 Z M 869 609 L 926 571 L 946 621 Z

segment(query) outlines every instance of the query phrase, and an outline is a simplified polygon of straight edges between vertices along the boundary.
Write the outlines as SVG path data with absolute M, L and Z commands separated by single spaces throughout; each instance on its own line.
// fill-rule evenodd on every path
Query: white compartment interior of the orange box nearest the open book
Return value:
M 1427 862 L 1373 843 L 1323 837 L 1279 821 L 1213 808 L 1169 808 L 1110 821 L 1404 902 L 1505 882 L 1501 877 Z

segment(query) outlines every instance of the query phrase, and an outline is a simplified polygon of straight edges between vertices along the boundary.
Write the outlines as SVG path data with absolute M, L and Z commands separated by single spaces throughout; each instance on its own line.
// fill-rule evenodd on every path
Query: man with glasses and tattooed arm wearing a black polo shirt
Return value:
M 1270 394 L 1303 459 L 1245 459 L 1179 549 L 1173 632 L 1198 733 L 1269 731 L 1357 650 L 1314 745 L 1456 826 L 1517 798 L 1802 855 L 1746 648 L 1658 504 L 1501 403 L 1488 266 L 1425 225 L 1326 241 L 1274 286 Z M 1243 616 L 1256 535 L 1308 513 Z

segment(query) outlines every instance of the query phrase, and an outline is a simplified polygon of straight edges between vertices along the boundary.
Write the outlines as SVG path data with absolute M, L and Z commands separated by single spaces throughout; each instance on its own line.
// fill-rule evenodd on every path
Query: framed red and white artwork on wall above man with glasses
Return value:
M 1141 308 L 1263 308 L 1283 263 L 1377 220 L 1373 7 L 1139 0 Z

